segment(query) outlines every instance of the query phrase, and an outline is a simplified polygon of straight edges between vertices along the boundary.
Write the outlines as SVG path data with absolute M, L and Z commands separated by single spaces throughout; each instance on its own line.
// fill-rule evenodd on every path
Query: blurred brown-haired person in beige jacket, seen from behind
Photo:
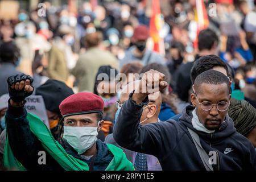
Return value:
M 93 92 L 94 79 L 98 69 L 103 65 L 110 65 L 118 69 L 117 58 L 109 51 L 100 48 L 101 36 L 99 32 L 86 34 L 86 52 L 79 56 L 79 60 L 71 73 L 76 77 L 79 92 Z

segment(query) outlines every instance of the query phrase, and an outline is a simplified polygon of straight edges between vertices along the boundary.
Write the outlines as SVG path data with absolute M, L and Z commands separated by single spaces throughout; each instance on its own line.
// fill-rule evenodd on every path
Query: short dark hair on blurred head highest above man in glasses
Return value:
M 198 48 L 199 51 L 203 51 L 205 49 L 212 49 L 214 43 L 218 43 L 218 36 L 214 31 L 209 28 L 202 30 L 199 32 L 198 36 Z

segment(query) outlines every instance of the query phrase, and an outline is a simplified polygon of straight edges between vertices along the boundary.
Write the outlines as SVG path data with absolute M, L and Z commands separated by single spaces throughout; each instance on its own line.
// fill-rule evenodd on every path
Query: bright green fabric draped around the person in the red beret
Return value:
M 67 171 L 89 170 L 88 164 L 67 154 L 64 148 L 52 137 L 51 131 L 48 130 L 47 126 L 44 125 L 36 115 L 28 113 L 27 119 L 32 133 L 39 139 L 48 154 L 50 154 L 61 167 Z M 109 151 L 112 152 L 114 158 L 106 168 L 106 171 L 134 171 L 133 164 L 127 160 L 126 155 L 121 148 L 115 147 L 112 144 L 107 144 L 107 146 Z M 7 131 L 3 165 L 7 169 L 26 170 L 26 168 L 16 160 L 13 152 L 11 151 Z

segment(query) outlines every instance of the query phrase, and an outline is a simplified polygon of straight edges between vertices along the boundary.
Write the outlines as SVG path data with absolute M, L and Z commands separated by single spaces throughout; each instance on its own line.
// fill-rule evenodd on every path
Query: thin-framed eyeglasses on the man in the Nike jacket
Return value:
M 196 94 L 195 94 L 195 96 L 196 96 Z M 196 99 L 199 102 L 197 96 L 196 96 Z M 209 111 L 212 109 L 213 106 L 216 106 L 217 110 L 221 111 L 221 112 L 228 110 L 229 105 L 230 105 L 229 102 L 226 102 L 226 101 L 218 102 L 218 104 L 212 104 L 208 101 L 203 101 L 203 102 L 199 102 L 199 104 L 201 106 L 201 109 L 203 109 L 204 111 Z

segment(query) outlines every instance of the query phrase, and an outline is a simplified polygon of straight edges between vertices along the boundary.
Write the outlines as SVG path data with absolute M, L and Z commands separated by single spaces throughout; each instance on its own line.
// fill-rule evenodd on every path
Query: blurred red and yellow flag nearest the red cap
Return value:
M 163 16 L 161 15 L 159 0 L 152 0 L 152 15 L 150 18 L 150 36 L 154 43 L 154 51 L 164 55 L 164 41 L 160 38 L 159 31 L 163 27 Z

